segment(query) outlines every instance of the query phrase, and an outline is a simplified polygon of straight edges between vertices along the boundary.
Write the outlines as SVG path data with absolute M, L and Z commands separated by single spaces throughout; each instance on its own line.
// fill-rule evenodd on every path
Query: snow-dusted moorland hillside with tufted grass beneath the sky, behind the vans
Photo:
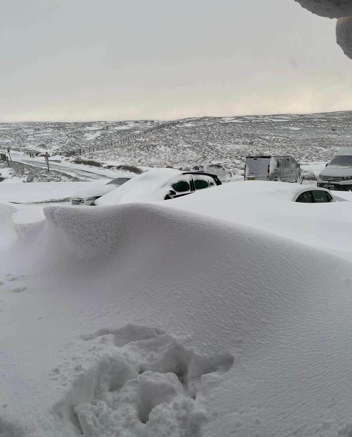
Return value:
M 102 146 L 158 121 L 0 124 L 0 149 L 71 150 Z M 327 161 L 351 146 L 352 112 L 307 115 L 206 117 L 182 126 L 150 132 L 122 145 L 86 154 L 102 162 L 189 167 L 205 161 L 229 168 L 248 154 L 291 154 L 301 163 Z

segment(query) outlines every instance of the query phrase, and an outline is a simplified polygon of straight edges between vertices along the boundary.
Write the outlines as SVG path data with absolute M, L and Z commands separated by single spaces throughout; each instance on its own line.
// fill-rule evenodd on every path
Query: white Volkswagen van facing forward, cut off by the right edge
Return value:
M 352 191 L 352 147 L 338 152 L 319 174 L 317 187 Z

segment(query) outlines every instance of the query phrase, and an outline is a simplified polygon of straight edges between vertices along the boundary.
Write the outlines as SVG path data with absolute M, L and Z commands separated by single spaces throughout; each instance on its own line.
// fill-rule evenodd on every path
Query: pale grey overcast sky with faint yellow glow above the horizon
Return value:
M 293 0 L 1 0 L 0 121 L 351 110 L 335 23 Z

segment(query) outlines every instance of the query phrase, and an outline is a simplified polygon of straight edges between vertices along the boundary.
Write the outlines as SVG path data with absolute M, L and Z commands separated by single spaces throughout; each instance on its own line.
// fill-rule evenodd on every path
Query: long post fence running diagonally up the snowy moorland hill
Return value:
M 74 149 L 74 150 L 69 150 L 68 152 L 53 151 L 53 152 L 46 152 L 46 153 L 51 154 L 51 156 L 60 155 L 60 156 L 67 156 L 69 158 L 70 156 L 83 155 L 84 153 L 97 152 L 99 150 L 110 149 L 110 147 L 118 146 L 119 144 L 120 145 L 124 144 L 125 142 L 128 142 L 131 139 L 140 138 L 144 135 L 147 135 L 150 132 L 158 131 L 158 130 L 164 129 L 164 128 L 169 128 L 170 126 L 184 125 L 186 123 L 191 123 L 191 122 L 196 121 L 196 120 L 198 120 L 198 121 L 202 120 L 203 118 L 206 118 L 206 116 L 200 117 L 200 118 L 197 118 L 197 117 L 188 118 L 187 120 L 183 120 L 183 121 L 179 121 L 179 120 L 169 121 L 168 123 L 162 123 L 159 126 L 145 129 L 144 131 L 139 132 L 138 134 L 128 135 L 127 137 L 118 139 L 117 141 L 106 142 L 103 146 L 93 146 L 93 147 L 89 147 L 88 149 L 83 149 L 83 148 Z M 93 149 L 93 150 L 91 150 L 91 149 Z M 38 154 L 35 152 L 30 152 L 29 156 L 35 158 L 36 156 L 45 156 L 45 153 Z

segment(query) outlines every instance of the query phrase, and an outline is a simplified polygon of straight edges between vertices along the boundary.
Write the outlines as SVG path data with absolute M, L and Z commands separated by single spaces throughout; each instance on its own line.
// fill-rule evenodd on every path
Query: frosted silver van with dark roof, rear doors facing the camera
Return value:
M 300 183 L 300 164 L 290 155 L 247 156 L 245 180 L 276 180 Z

